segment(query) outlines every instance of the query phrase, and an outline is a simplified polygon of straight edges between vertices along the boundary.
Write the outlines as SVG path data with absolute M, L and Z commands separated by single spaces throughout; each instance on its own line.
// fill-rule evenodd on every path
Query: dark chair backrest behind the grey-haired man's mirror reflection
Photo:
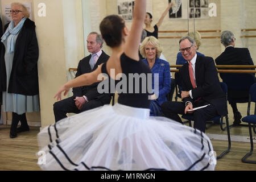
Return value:
M 229 89 L 248 90 L 254 84 L 255 77 L 250 73 L 222 73 L 223 82 L 228 85 Z

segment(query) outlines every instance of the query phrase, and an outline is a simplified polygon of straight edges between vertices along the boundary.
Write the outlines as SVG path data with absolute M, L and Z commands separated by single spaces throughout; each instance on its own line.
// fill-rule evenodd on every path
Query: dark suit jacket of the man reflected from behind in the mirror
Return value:
M 225 51 L 215 59 L 215 62 L 216 65 L 254 65 L 249 49 L 231 46 L 226 47 Z M 221 73 L 220 77 L 222 78 Z

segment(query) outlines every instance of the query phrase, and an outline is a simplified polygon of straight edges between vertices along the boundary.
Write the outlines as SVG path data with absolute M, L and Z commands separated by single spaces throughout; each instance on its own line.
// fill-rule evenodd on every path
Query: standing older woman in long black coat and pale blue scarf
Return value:
M 38 41 L 35 23 L 21 3 L 11 4 L 11 22 L 1 38 L 1 92 L 3 110 L 13 113 L 10 138 L 28 131 L 26 113 L 39 111 Z M 17 129 L 18 123 L 21 126 Z

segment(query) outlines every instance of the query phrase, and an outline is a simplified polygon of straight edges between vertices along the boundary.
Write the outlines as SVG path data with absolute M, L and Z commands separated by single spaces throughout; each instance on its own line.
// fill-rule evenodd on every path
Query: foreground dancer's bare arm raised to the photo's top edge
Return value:
M 139 44 L 143 30 L 143 22 L 146 16 L 146 0 L 136 0 L 134 5 L 133 23 L 130 34 L 125 44 L 125 54 L 134 60 L 139 60 Z

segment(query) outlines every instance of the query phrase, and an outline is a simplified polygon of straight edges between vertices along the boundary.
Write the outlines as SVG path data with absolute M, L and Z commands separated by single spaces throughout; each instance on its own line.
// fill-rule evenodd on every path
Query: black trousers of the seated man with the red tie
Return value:
M 208 102 L 200 100 L 197 104 L 193 105 L 193 108 L 208 104 Z M 183 102 L 164 102 L 161 107 L 165 117 L 182 123 L 178 114 L 185 114 L 185 105 Z M 213 105 L 195 110 L 193 113 L 194 128 L 205 133 L 206 121 L 209 121 L 217 115 L 217 110 Z

